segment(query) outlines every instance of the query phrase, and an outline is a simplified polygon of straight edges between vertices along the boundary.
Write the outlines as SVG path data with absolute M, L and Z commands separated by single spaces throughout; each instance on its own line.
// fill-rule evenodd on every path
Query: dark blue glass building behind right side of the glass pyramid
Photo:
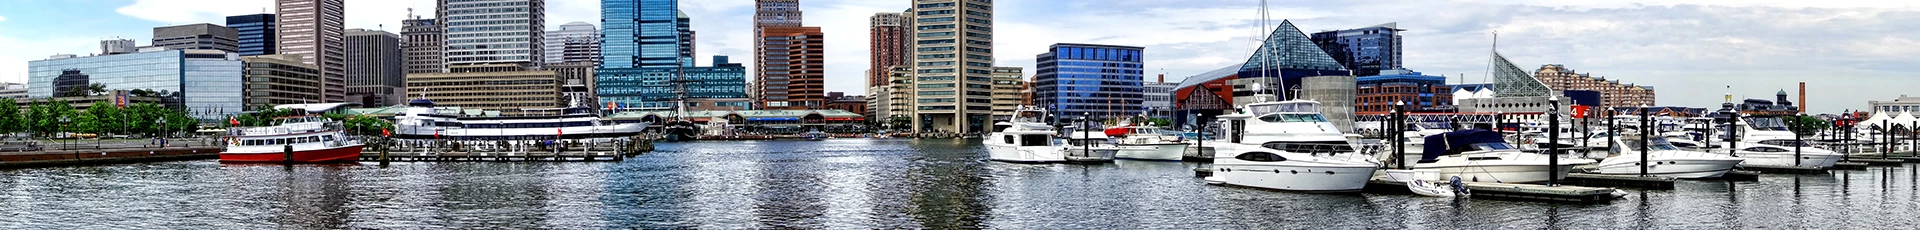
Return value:
M 1313 33 L 1313 44 L 1352 69 L 1356 77 L 1373 77 L 1380 71 L 1400 69 L 1400 29 L 1398 23 L 1382 23 L 1359 29 Z

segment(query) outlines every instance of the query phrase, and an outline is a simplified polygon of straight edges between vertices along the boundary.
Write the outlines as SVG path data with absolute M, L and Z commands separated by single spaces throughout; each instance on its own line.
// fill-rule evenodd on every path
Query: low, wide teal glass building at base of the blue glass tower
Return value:
M 593 88 L 601 102 L 618 109 L 668 109 L 678 98 L 730 100 L 724 107 L 751 107 L 747 98 L 747 67 L 714 56 L 712 67 L 624 67 L 599 69 Z M 684 90 L 684 94 L 682 94 Z M 739 98 L 739 105 L 733 105 Z M 697 104 L 689 104 L 697 105 Z

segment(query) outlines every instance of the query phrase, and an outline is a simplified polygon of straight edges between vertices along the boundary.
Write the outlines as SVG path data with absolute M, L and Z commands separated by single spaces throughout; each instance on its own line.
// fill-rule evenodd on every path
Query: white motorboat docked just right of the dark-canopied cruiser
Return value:
M 1740 165 L 1738 157 L 1728 157 L 1720 153 L 1688 151 L 1674 148 L 1667 138 L 1649 138 L 1642 142 L 1638 136 L 1615 140 L 1611 150 L 1613 157 L 1601 159 L 1594 165 L 1594 172 L 1599 174 L 1640 174 L 1642 165 L 1645 165 L 1645 174 L 1651 176 L 1672 176 L 1672 178 L 1716 178 L 1734 171 Z M 1642 161 L 1640 148 L 1647 148 L 1645 161 Z

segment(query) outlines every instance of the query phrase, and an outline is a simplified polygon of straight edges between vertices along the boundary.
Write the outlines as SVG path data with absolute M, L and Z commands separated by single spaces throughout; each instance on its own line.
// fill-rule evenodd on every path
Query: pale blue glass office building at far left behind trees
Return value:
M 79 77 L 81 86 L 98 82 L 108 90 L 156 90 L 180 98 L 179 107 L 207 121 L 242 111 L 242 69 L 238 54 L 221 50 L 150 48 L 117 56 L 61 56 L 27 61 L 27 96 L 54 98 L 60 80 Z

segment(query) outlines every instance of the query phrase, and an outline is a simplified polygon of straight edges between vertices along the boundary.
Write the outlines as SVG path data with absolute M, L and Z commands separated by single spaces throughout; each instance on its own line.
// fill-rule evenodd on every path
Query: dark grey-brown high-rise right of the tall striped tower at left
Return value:
M 399 34 L 348 29 L 348 98 L 367 107 L 397 105 L 407 96 Z

